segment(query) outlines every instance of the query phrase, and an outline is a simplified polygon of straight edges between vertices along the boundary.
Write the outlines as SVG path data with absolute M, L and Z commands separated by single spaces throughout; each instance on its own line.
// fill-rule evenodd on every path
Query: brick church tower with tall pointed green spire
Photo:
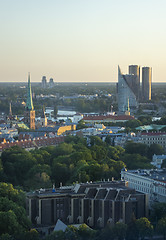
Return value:
M 35 110 L 32 101 L 30 74 L 28 75 L 27 101 L 24 113 L 24 122 L 30 129 L 35 129 Z

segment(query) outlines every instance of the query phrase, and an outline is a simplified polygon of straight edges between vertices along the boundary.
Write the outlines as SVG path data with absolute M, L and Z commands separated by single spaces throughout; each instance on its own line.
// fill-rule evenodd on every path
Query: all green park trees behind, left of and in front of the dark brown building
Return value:
M 39 239 L 25 212 L 25 191 L 59 187 L 75 182 L 120 179 L 122 168 L 152 168 L 151 152 L 160 154 L 159 145 L 128 142 L 125 148 L 111 146 L 108 139 L 67 136 L 58 146 L 26 151 L 18 146 L 3 151 L 0 159 L 0 239 Z M 134 161 L 133 161 L 134 159 Z M 5 183 L 6 182 L 6 183 Z M 14 186 L 14 187 L 13 187 Z M 151 221 L 151 222 L 150 222 Z M 153 228 L 165 236 L 166 204 L 153 207 L 151 218 L 134 219 L 108 225 L 102 230 L 70 227 L 65 232 L 53 232 L 46 240 L 54 239 L 144 239 L 152 236 Z

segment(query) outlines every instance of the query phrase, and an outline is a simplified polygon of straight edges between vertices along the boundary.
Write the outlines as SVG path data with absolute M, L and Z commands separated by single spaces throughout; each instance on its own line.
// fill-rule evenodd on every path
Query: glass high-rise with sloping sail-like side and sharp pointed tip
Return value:
M 118 66 L 118 112 L 125 114 L 126 111 L 135 109 L 138 106 L 136 94 L 132 88 L 133 82 L 137 79 L 137 75 L 122 74 Z

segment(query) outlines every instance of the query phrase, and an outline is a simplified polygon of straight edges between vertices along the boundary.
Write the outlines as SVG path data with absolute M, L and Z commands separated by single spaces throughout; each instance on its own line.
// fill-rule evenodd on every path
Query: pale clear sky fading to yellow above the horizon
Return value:
M 166 82 L 165 0 L 0 0 L 0 81 L 117 82 L 118 65 Z

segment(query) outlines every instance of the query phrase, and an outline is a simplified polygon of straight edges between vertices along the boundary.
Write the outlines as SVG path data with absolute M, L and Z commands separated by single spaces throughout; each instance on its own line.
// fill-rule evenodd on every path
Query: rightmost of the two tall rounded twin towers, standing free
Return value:
M 144 100 L 152 98 L 152 68 L 142 68 L 142 97 Z

